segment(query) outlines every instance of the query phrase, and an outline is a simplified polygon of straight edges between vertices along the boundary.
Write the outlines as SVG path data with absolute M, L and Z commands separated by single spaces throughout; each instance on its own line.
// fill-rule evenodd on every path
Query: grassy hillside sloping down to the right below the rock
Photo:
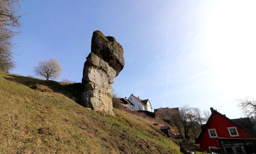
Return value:
M 0 72 L 0 154 L 180 153 L 158 127 L 138 117 L 75 103 L 79 88 Z

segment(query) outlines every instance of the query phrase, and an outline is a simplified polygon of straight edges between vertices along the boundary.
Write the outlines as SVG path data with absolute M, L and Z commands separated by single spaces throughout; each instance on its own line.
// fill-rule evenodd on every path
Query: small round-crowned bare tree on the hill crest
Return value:
M 55 58 L 49 60 L 39 61 L 38 66 L 34 67 L 34 73 L 36 75 L 45 77 L 46 80 L 58 79 L 61 73 L 61 66 Z

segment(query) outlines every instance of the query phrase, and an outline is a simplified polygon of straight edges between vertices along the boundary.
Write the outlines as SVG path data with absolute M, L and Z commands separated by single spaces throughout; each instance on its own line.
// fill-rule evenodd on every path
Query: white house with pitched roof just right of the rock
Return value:
M 128 98 L 128 101 L 130 101 L 134 106 L 133 106 L 133 111 L 139 111 L 139 110 L 144 110 L 144 111 L 149 111 L 152 112 L 152 106 L 150 104 L 149 99 L 147 100 L 141 100 L 139 99 L 139 96 L 136 97 L 133 94 Z

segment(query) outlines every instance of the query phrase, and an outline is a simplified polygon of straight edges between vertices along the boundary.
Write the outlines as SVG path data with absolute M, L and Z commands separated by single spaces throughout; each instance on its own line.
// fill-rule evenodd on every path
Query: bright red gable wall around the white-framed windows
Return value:
M 228 127 L 236 127 L 239 136 L 231 137 L 229 135 Z M 217 147 L 219 148 L 217 138 L 210 138 L 208 133 L 208 129 L 215 129 L 218 138 L 250 138 L 250 135 L 246 133 L 242 128 L 239 126 L 232 124 L 229 120 L 221 117 L 219 114 L 215 114 L 209 123 L 209 126 L 204 131 L 202 138 L 199 142 L 200 147 L 204 150 L 209 150 L 208 147 Z

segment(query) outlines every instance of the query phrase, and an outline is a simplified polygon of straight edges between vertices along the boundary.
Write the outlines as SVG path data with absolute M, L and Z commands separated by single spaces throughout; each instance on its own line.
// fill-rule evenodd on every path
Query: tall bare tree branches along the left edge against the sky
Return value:
M 0 71 L 10 71 L 15 67 L 13 48 L 16 44 L 14 37 L 21 32 L 18 10 L 20 0 L 0 0 Z

